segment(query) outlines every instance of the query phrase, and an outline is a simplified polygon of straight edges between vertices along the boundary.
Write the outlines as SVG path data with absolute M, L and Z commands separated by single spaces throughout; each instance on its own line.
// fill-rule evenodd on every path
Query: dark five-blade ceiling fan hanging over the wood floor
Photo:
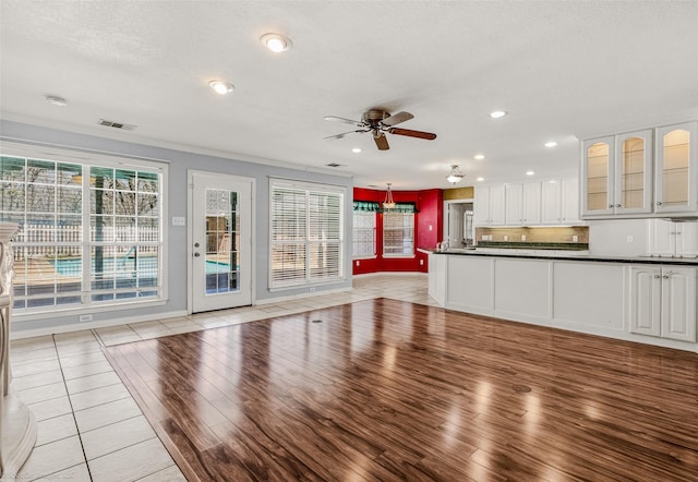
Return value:
M 325 120 L 345 122 L 347 124 L 353 124 L 359 128 L 353 131 L 344 132 L 337 135 L 330 135 L 329 137 L 325 138 L 342 138 L 345 135 L 353 134 L 356 132 L 371 132 L 371 134 L 373 135 L 373 141 L 378 147 L 378 150 L 387 150 L 390 148 L 390 146 L 388 145 L 388 140 L 385 136 L 386 132 L 388 134 L 407 135 L 408 137 L 425 138 L 428 141 L 436 138 L 436 134 L 432 134 L 431 132 L 412 131 L 410 129 L 400 129 L 394 126 L 401 122 L 408 121 L 413 117 L 414 116 L 409 112 L 398 112 L 394 116 L 390 116 L 390 112 L 382 109 L 368 110 L 361 117 L 361 121 L 345 119 L 344 117 L 337 116 L 325 116 Z

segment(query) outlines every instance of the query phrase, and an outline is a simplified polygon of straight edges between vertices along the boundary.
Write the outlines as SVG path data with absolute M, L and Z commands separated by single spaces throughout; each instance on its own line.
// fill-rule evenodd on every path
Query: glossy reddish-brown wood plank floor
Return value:
M 107 347 L 191 481 L 696 481 L 698 356 L 392 299 Z

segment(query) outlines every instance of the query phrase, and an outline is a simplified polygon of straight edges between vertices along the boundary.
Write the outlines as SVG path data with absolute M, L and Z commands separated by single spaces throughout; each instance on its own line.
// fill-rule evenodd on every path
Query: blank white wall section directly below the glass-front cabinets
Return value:
M 589 253 L 639 256 L 650 251 L 648 219 L 590 220 Z

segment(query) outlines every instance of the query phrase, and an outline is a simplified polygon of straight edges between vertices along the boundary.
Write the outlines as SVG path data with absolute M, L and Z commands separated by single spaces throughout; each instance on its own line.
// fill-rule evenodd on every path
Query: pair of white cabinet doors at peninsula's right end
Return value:
M 698 268 L 630 266 L 630 333 L 695 342 L 697 277 Z

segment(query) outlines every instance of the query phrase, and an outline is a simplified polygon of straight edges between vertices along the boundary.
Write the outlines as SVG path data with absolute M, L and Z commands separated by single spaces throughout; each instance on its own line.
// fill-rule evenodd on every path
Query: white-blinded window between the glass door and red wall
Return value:
M 270 288 L 344 279 L 344 190 L 272 180 Z

